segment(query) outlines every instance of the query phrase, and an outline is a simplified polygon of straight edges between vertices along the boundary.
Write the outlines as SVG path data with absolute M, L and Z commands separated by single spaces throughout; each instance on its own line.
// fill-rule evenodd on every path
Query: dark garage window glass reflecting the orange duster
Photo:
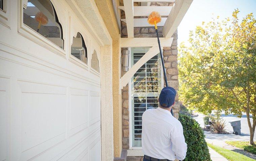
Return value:
M 23 23 L 64 49 L 62 27 L 50 0 L 28 0 Z

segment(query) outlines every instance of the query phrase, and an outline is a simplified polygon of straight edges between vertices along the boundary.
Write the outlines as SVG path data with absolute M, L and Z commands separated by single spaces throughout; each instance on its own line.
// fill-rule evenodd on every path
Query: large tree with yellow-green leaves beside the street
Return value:
M 219 16 L 197 26 L 189 46 L 180 45 L 180 99 L 203 113 L 246 112 L 250 144 L 256 126 L 256 20 L 252 13 L 239 20 Z M 252 115 L 252 123 L 250 122 Z

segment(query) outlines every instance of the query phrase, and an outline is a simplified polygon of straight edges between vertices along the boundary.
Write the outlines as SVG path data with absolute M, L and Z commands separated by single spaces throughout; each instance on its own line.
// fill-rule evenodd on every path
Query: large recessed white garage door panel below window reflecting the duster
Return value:
M 18 84 L 21 88 L 21 152 L 38 154 L 65 139 L 66 88 L 23 81 Z

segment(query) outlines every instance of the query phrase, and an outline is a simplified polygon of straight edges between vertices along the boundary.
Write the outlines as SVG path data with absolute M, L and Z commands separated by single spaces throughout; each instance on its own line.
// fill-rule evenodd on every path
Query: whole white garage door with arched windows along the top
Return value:
M 0 10 L 0 161 L 100 161 L 100 46 L 65 1 L 49 15 L 45 1 Z

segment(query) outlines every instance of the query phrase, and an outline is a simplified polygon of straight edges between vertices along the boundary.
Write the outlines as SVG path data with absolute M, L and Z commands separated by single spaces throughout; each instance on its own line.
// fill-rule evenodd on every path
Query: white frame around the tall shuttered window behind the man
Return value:
M 128 48 L 128 50 L 130 51 L 129 53 L 129 56 L 130 56 L 130 59 L 129 59 L 129 68 L 131 68 L 132 66 L 132 61 L 133 61 L 133 58 L 132 58 L 132 53 L 131 53 L 131 48 Z M 162 67 L 162 64 L 161 64 L 161 60 L 160 60 L 160 69 L 161 69 L 161 88 L 164 87 L 164 82 L 163 82 L 163 67 Z M 132 79 L 132 78 L 131 78 Z M 133 147 L 132 146 L 132 135 L 133 135 L 133 131 L 132 131 L 132 128 L 133 128 L 133 121 L 132 121 L 132 84 L 131 84 L 131 80 L 129 81 L 128 83 L 128 87 L 129 87 L 129 149 L 130 150 L 142 150 L 142 147 Z

